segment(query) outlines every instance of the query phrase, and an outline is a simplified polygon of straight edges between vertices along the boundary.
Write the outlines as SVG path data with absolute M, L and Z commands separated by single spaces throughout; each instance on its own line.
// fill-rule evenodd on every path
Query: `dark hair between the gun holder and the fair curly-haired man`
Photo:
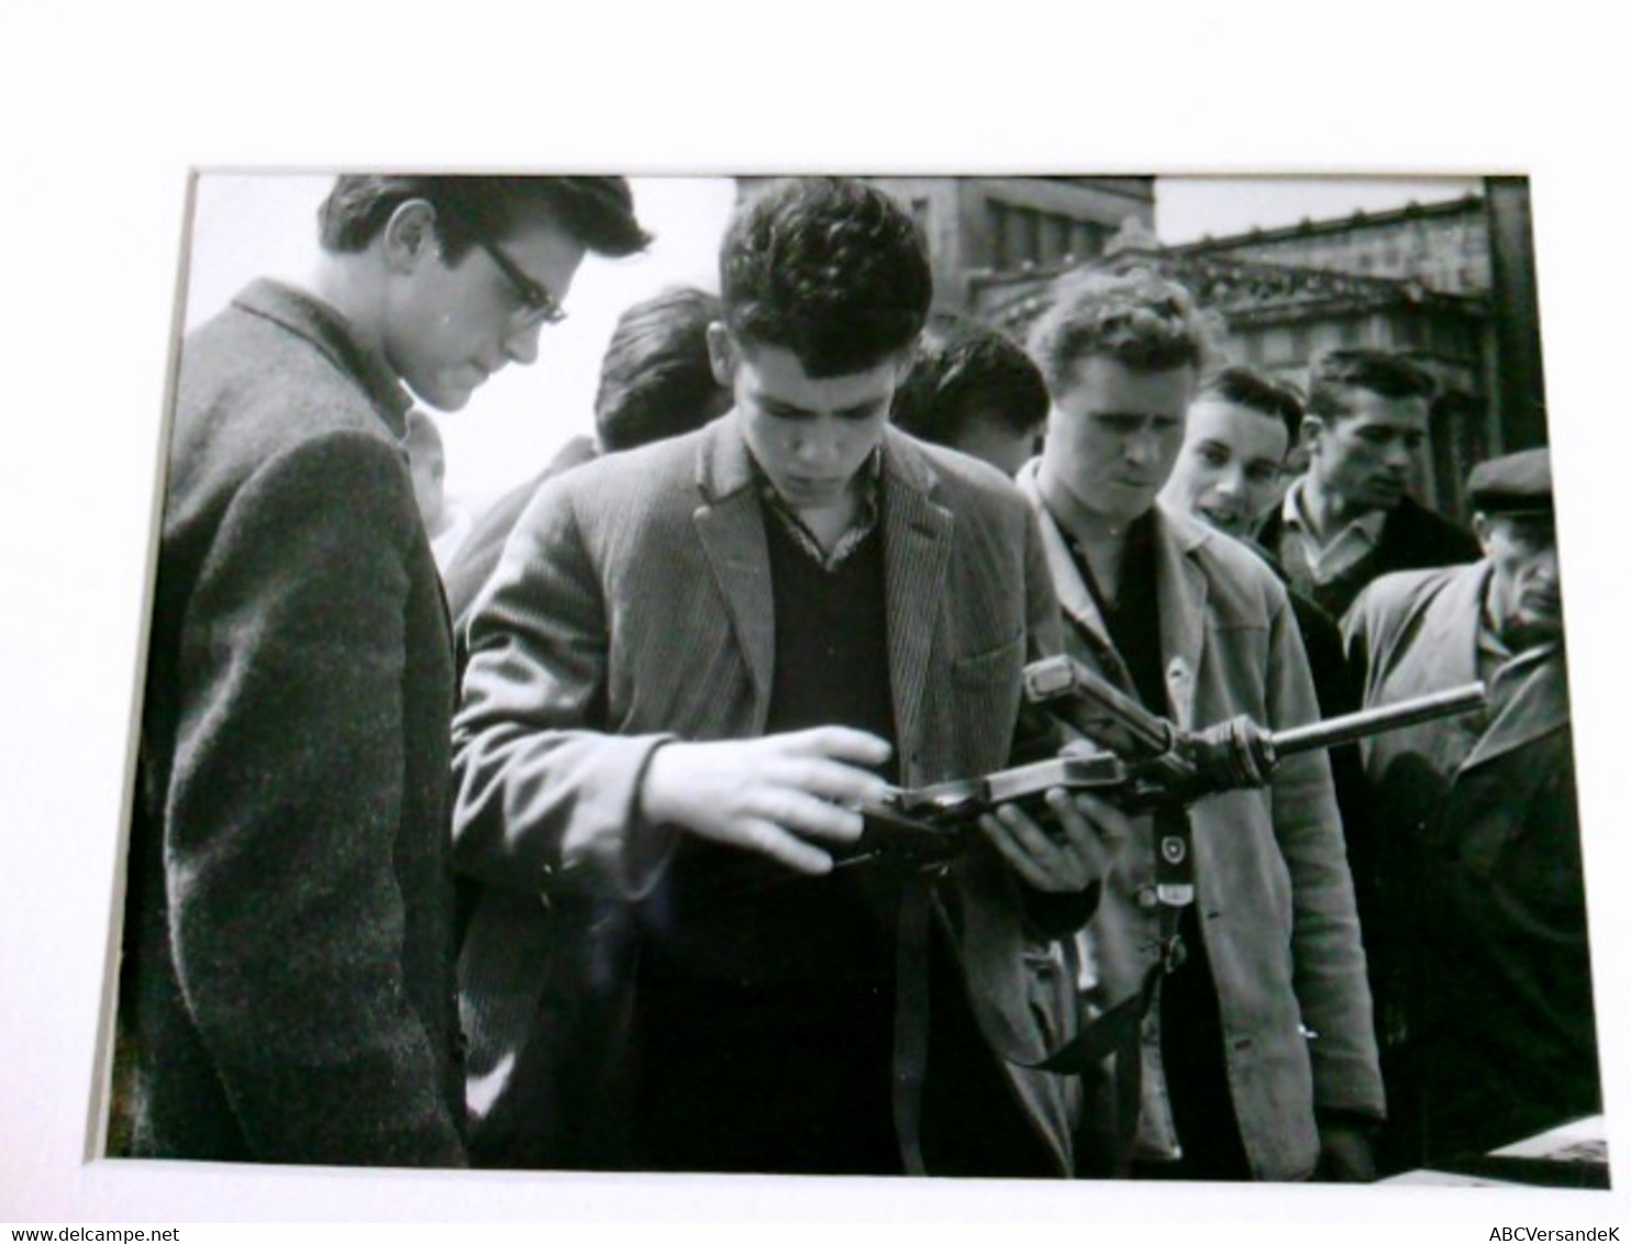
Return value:
M 1031 432 L 1047 408 L 1047 383 L 1018 344 L 974 320 L 938 315 L 918 341 L 889 417 L 915 437 L 956 445 L 975 416 Z

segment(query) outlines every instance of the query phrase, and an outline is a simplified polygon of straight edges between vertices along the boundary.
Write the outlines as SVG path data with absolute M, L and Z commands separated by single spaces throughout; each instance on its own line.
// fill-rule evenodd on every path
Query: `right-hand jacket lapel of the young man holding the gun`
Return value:
M 930 654 L 946 602 L 951 561 L 951 510 L 930 499 L 928 463 L 902 439 L 884 448 L 884 602 L 889 618 L 889 677 L 895 737 L 912 755 L 918 735 Z

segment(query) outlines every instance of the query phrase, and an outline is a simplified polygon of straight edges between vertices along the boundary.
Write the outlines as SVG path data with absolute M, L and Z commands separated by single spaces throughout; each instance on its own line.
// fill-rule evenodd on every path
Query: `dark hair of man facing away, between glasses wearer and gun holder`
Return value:
M 721 315 L 713 293 L 677 285 L 618 316 L 595 393 L 602 448 L 677 437 L 726 411 L 731 391 L 708 360 L 708 324 Z

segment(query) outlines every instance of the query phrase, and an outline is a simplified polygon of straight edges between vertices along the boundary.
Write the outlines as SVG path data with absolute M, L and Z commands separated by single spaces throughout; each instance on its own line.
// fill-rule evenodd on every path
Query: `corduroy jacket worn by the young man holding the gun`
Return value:
M 553 1017 L 540 977 L 576 921 L 551 926 L 538 895 L 610 895 L 597 911 L 615 921 L 672 841 L 639 815 L 652 750 L 765 730 L 775 618 L 758 481 L 734 412 L 551 479 L 476 608 L 455 730 L 455 858 L 484 882 L 460 965 L 478 1146 L 514 1136 L 506 1117 L 527 1109 L 527 1068 L 551 1057 L 537 1048 Z M 1021 668 L 1059 644 L 1029 509 L 997 471 L 889 429 L 881 532 L 899 781 L 1006 765 Z M 982 843 L 939 889 L 939 920 L 987 1039 L 1041 1058 L 1073 1014 L 1016 889 Z M 1075 1086 L 1008 1071 L 1068 1172 Z M 530 1109 L 522 1128 L 571 1127 Z

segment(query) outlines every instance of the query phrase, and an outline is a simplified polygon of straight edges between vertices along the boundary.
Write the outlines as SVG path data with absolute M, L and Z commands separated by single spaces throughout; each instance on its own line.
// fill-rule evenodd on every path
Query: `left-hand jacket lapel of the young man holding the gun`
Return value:
M 765 706 L 776 655 L 770 551 L 747 443 L 734 412 L 718 421 L 698 448 L 696 484 L 703 494 L 692 515 L 696 538 L 731 608 L 754 699 Z

